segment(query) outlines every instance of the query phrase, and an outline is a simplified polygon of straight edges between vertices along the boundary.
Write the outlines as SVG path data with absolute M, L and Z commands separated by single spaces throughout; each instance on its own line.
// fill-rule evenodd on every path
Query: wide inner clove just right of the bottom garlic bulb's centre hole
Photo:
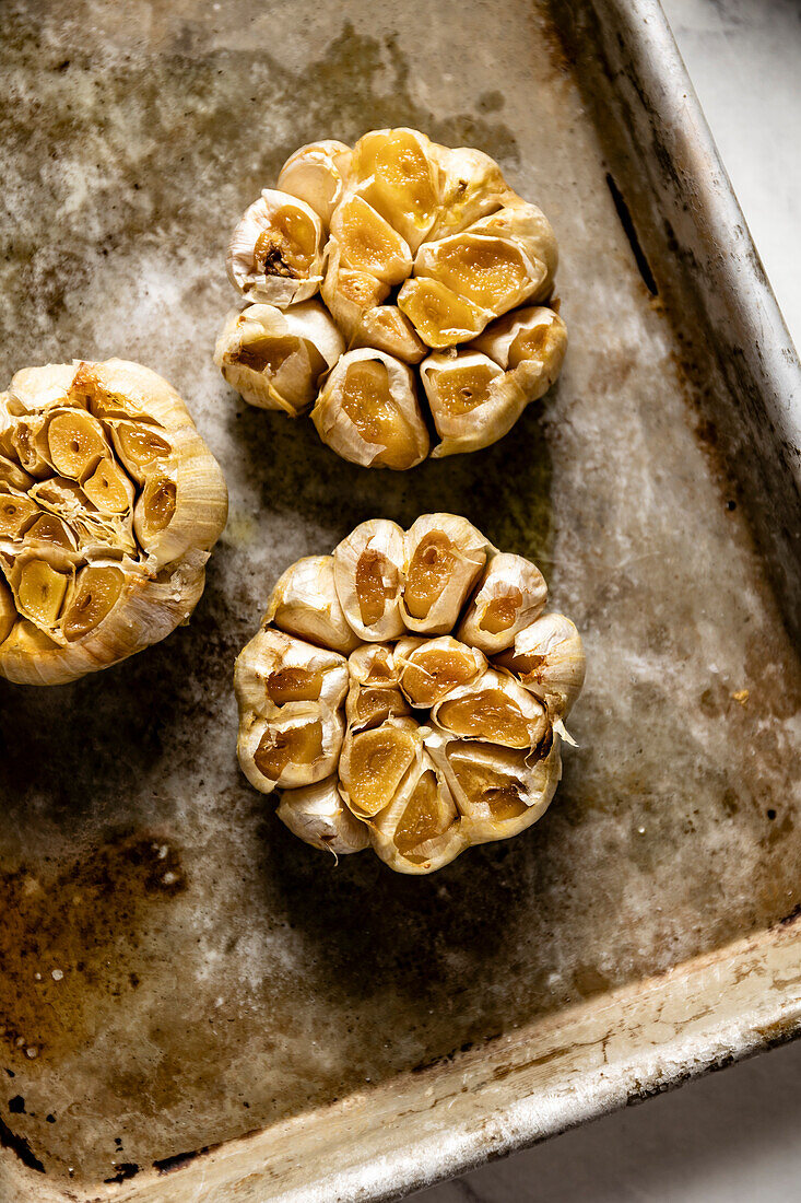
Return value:
M 551 729 L 545 706 L 497 669 L 451 689 L 433 707 L 431 721 L 457 739 L 510 748 L 536 747 Z

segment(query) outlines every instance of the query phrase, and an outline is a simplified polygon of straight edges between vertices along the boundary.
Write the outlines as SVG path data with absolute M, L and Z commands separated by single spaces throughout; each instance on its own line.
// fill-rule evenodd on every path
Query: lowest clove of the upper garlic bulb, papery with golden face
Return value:
M 343 460 L 403 472 L 428 455 L 411 371 L 385 351 L 348 351 L 326 380 L 312 421 Z

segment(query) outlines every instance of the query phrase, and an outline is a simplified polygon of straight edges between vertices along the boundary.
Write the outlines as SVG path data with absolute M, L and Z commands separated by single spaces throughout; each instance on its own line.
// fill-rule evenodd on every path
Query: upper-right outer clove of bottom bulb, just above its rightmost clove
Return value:
M 548 595 L 545 577 L 530 559 L 498 552 L 457 628 L 457 638 L 487 656 L 511 647 L 515 636 L 540 615 Z

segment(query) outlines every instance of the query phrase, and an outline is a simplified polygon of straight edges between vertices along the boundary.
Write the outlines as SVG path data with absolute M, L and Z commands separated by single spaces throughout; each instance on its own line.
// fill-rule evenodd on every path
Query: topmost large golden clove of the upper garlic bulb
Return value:
M 404 128 L 364 134 L 354 147 L 352 188 L 415 251 L 440 207 L 443 170 L 434 144 Z

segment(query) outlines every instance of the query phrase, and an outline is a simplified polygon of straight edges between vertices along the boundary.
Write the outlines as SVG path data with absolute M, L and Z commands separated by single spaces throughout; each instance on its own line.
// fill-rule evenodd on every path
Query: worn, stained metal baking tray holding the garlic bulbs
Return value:
M 183 392 L 231 521 L 188 627 L 0 687 L 2 1203 L 398 1198 L 801 1025 L 799 365 L 657 4 L 8 0 L 4 379 Z M 571 346 L 497 446 L 403 475 L 237 404 L 236 215 L 316 137 L 409 124 L 551 217 Z M 237 771 L 235 654 L 356 522 L 446 509 L 587 641 L 523 836 L 404 878 Z

